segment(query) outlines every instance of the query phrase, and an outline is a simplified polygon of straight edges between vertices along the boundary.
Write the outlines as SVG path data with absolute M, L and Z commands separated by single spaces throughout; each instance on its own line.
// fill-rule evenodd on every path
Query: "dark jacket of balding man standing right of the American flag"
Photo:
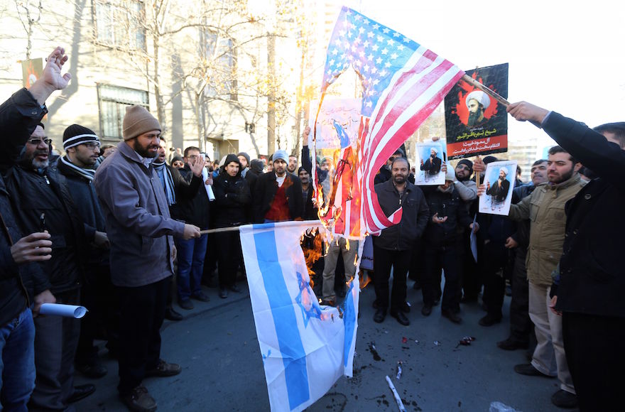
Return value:
M 406 189 L 400 196 L 392 180 L 375 185 L 375 191 L 384 215 L 390 216 L 399 207 L 402 209 L 401 221 L 374 237 L 375 246 L 387 250 L 413 249 L 430 218 L 423 192 L 412 183 L 406 182 Z

